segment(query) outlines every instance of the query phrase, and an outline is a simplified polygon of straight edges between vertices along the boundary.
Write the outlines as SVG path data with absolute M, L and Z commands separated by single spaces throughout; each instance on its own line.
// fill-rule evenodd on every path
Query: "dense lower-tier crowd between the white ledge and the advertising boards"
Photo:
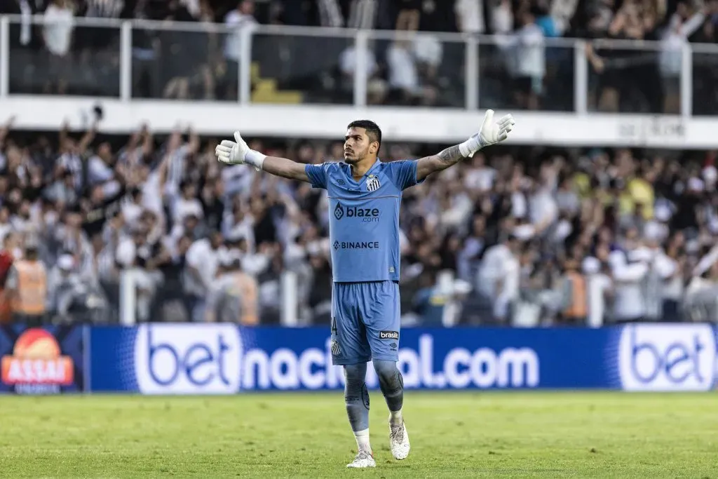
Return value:
M 116 321 L 131 270 L 141 321 L 276 324 L 291 271 L 301 324 L 329 323 L 324 190 L 223 167 L 216 140 L 187 126 L 165 138 L 149 126 L 129 138 L 11 126 L 0 130 L 4 320 Z M 342 157 L 340 142 L 250 146 Z M 387 143 L 381 158 L 441 148 Z M 404 195 L 404 322 L 714 320 L 717 157 L 496 147 L 430 177 Z

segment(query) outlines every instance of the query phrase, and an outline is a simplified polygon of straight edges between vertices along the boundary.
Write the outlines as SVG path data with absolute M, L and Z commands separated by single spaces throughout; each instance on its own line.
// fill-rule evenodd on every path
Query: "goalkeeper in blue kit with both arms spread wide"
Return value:
M 247 147 L 237 131 L 215 153 L 225 164 L 258 170 L 325 188 L 330 200 L 332 251 L 332 363 L 344 367 L 345 403 L 358 445 L 349 468 L 376 467 L 369 442 L 369 394 L 365 375 L 373 361 L 389 409 L 389 446 L 398 460 L 409 455 L 401 409 L 404 381 L 396 367 L 399 345 L 399 205 L 402 191 L 491 144 L 503 141 L 514 120 L 493 121 L 486 111 L 477 134 L 439 154 L 381 162 L 381 130 L 368 120 L 347 127 L 344 162 L 300 164 Z

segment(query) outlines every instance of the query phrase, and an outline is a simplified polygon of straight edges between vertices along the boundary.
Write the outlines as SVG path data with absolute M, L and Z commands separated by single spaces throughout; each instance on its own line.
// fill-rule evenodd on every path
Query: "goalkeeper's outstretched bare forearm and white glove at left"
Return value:
M 257 171 L 262 170 L 290 180 L 309 182 L 304 170 L 304 164 L 293 162 L 291 159 L 280 157 L 267 157 L 260 152 L 249 149 L 247 142 L 242 139 L 239 131 L 235 131 L 235 141 L 223 140 L 217 145 L 215 154 L 220 162 L 226 164 L 251 164 Z

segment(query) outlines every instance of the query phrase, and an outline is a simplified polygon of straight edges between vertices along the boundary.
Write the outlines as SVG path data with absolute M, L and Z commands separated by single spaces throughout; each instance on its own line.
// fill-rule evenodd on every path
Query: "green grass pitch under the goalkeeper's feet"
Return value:
M 346 470 L 355 442 L 341 392 L 223 397 L 0 397 L 9 478 L 718 478 L 718 396 L 419 393 L 411 454 L 388 450 L 371 396 L 376 470 Z

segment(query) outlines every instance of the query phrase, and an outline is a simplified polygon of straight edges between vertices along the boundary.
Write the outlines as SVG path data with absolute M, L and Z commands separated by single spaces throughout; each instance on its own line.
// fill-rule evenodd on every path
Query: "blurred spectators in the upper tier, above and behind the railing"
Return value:
M 683 46 L 718 40 L 716 0 L 6 0 L 2 12 L 22 16 L 11 26 L 11 93 L 118 96 L 119 29 L 75 27 L 73 17 L 163 21 L 139 24 L 131 36 L 135 98 L 236 101 L 241 32 L 283 24 L 424 32 L 370 41 L 370 104 L 464 107 L 465 44 L 440 35 L 462 32 L 495 34 L 479 48 L 485 108 L 571 111 L 574 51 L 559 40 L 569 37 L 589 40 L 589 108 L 677 113 Z M 45 24 L 33 28 L 33 13 Z M 165 29 L 170 22 L 192 31 Z M 298 92 L 293 101 L 353 103 L 357 48 L 350 38 L 256 35 L 253 101 L 276 101 L 265 88 L 274 83 L 260 81 L 269 78 Z M 716 57 L 692 55 L 694 114 L 718 112 Z

